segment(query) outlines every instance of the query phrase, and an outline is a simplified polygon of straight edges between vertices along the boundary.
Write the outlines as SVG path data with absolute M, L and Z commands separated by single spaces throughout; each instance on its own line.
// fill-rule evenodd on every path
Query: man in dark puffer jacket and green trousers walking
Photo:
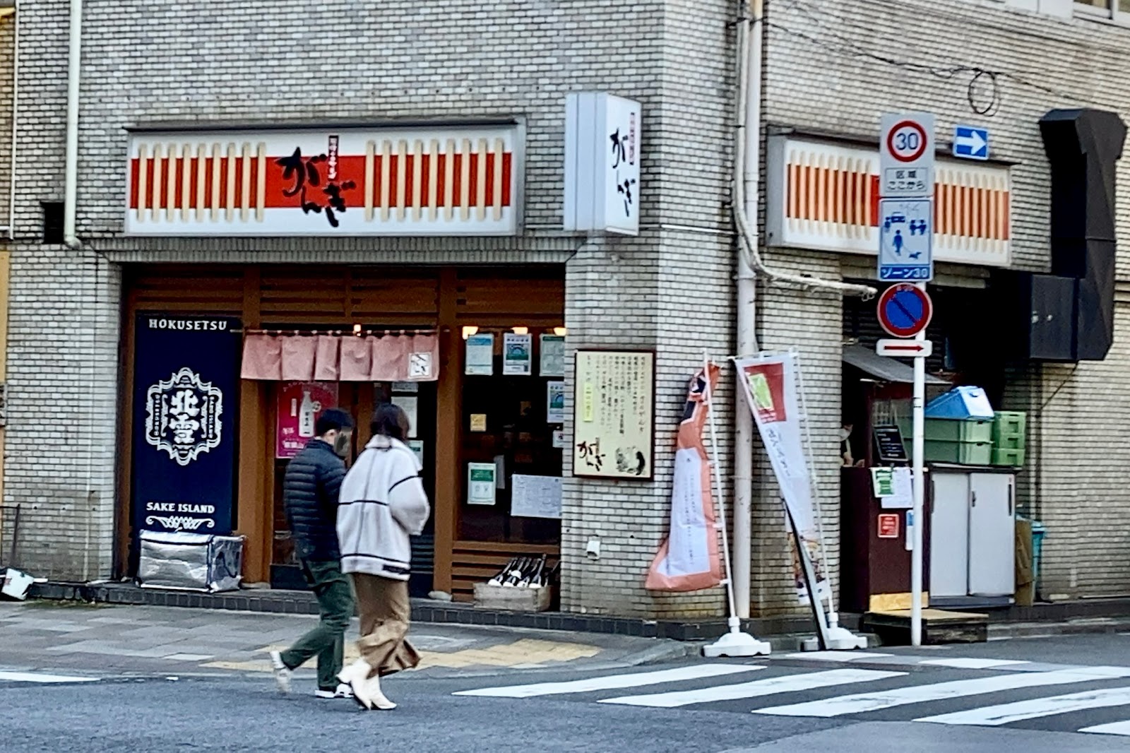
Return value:
M 346 477 L 353 439 L 353 417 L 330 408 L 319 416 L 314 439 L 287 466 L 282 481 L 282 504 L 290 522 L 302 574 L 310 583 L 321 618 L 318 626 L 286 651 L 271 651 L 271 666 L 279 690 L 290 692 L 290 673 L 318 657 L 318 698 L 351 698 L 348 685 L 339 684 L 345 632 L 354 613 L 353 589 L 341 573 L 338 551 L 338 492 Z

